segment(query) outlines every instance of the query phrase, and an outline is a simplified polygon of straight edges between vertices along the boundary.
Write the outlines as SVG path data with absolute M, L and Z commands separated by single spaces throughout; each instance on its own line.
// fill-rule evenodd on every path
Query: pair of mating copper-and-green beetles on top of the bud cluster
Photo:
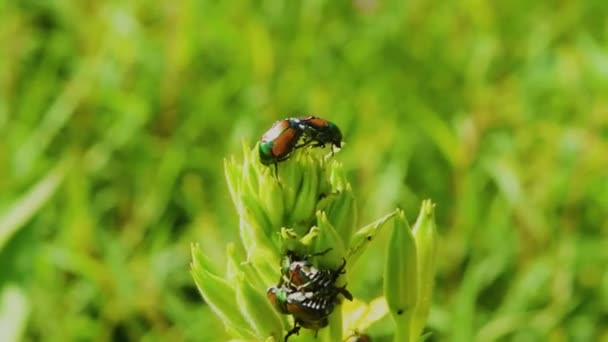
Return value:
M 289 158 L 298 148 L 312 144 L 312 147 L 325 147 L 325 144 L 340 148 L 342 132 L 333 122 L 316 116 L 287 118 L 275 122 L 260 140 L 260 161 L 264 165 L 277 164 Z

